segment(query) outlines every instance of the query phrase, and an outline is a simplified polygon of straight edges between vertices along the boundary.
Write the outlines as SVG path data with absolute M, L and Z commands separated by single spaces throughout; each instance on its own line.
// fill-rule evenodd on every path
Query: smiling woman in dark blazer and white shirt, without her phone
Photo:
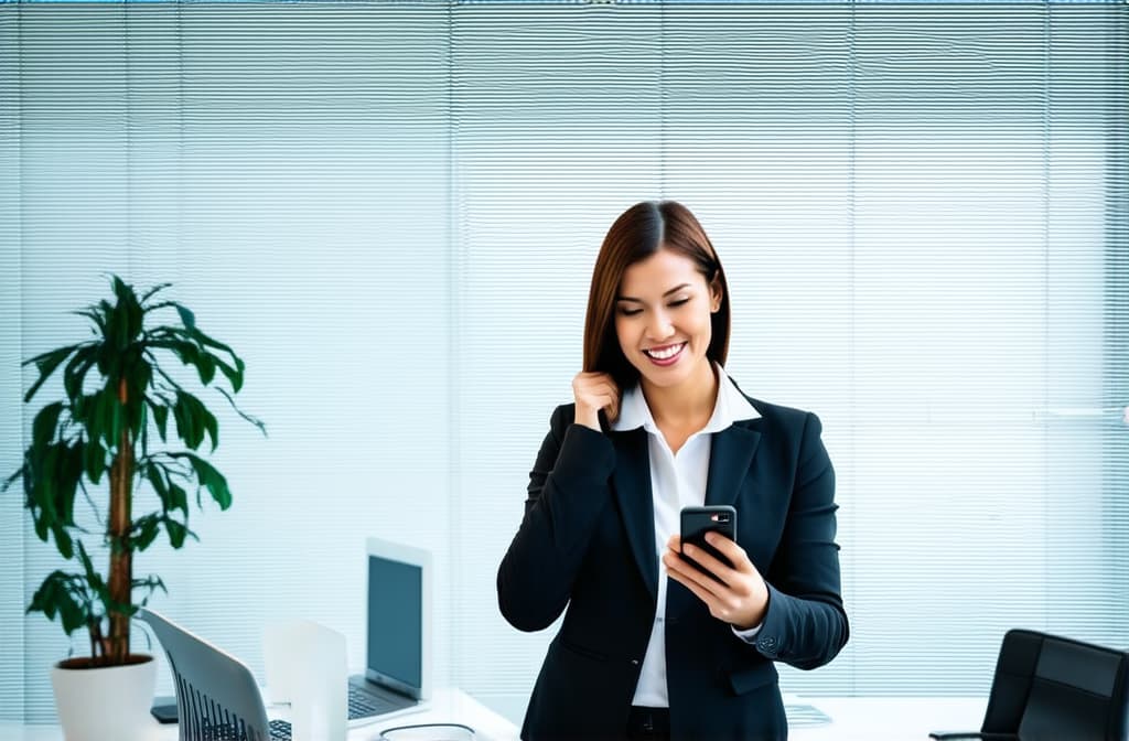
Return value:
M 773 662 L 814 669 L 847 643 L 820 421 L 745 396 L 728 341 L 694 216 L 628 209 L 596 259 L 575 403 L 552 415 L 498 569 L 514 627 L 564 611 L 523 739 L 784 739 Z M 709 537 L 729 565 L 686 547 L 719 581 L 680 555 L 679 512 L 702 504 L 737 511 L 736 542 Z

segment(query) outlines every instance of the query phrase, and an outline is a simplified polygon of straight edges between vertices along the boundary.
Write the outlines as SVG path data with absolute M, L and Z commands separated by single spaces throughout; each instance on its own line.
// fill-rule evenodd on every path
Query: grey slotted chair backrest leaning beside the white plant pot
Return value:
M 266 709 L 251 670 L 168 618 L 141 609 L 168 655 L 181 741 L 269 741 Z

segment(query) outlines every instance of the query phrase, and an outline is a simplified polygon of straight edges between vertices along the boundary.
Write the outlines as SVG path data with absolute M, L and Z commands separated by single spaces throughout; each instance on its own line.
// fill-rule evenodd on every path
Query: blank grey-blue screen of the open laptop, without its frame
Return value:
M 368 674 L 423 682 L 423 569 L 368 556 Z

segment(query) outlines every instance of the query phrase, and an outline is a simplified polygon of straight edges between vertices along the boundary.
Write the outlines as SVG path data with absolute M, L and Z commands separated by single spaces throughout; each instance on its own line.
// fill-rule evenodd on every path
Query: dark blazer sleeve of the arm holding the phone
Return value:
M 835 543 L 835 476 L 821 429 L 819 417 L 808 412 L 788 518 L 764 579 L 769 608 L 754 644 L 768 659 L 797 669 L 830 662 L 849 634 Z

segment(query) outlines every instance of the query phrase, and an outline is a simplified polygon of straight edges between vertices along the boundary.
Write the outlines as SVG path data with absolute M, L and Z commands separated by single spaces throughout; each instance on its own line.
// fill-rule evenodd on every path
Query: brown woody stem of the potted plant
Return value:
M 133 552 L 129 543 L 130 488 L 133 481 L 133 446 L 130 444 L 125 406 L 129 401 L 125 378 L 117 384 L 122 406 L 122 429 L 117 455 L 110 470 L 110 599 L 121 609 L 107 610 L 110 617 L 110 663 L 122 664 L 130 652 L 130 616 L 123 611 L 132 603 Z

